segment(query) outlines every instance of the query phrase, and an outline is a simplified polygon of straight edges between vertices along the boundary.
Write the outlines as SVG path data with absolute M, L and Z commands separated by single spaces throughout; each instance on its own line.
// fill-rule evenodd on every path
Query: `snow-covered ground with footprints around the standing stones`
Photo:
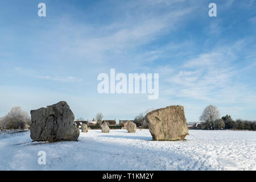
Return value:
M 79 142 L 0 139 L 0 170 L 256 170 L 255 131 L 189 130 L 185 141 L 152 141 L 148 130 L 80 133 Z M 46 152 L 46 165 L 38 152 Z

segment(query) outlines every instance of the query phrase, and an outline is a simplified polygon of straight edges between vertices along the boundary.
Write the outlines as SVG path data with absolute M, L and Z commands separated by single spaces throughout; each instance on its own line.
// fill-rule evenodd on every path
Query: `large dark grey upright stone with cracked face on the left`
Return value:
M 76 141 L 79 138 L 79 129 L 74 122 L 75 116 L 65 101 L 31 110 L 30 114 L 30 137 L 34 141 Z

